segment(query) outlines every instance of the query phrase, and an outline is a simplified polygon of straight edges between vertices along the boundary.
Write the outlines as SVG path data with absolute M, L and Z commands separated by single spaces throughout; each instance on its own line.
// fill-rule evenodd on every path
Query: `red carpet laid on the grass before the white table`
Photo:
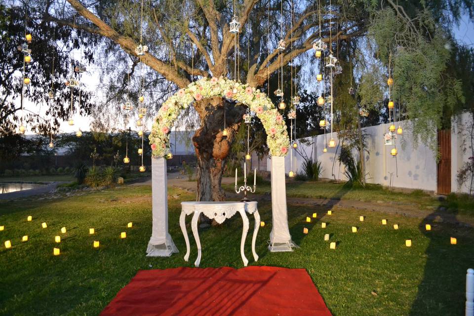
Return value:
M 108 315 L 331 316 L 305 269 L 176 268 L 139 271 Z

